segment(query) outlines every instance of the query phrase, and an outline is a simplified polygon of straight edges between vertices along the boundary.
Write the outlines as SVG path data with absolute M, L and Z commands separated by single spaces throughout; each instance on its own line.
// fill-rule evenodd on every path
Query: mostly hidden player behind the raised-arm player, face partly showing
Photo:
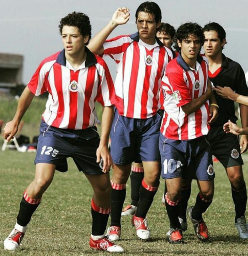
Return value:
M 157 34 L 156 36 L 158 39 L 163 43 L 164 46 L 169 48 L 172 51 L 173 58 L 176 58 L 178 56 L 178 52 L 174 51 L 172 49 L 172 44 L 173 44 L 173 38 L 175 36 L 176 30 L 174 29 L 173 26 L 171 26 L 169 23 L 164 23 L 161 22 L 159 28 L 157 29 Z M 160 104 L 161 108 L 159 111 L 159 114 L 163 116 L 163 93 L 161 91 L 160 93 Z M 140 198 L 140 185 L 144 177 L 144 169 L 142 163 L 133 163 L 132 168 L 131 168 L 131 175 L 130 175 L 130 180 L 131 180 L 131 204 L 127 205 L 121 215 L 126 216 L 126 215 L 131 215 L 134 214 L 137 210 L 137 205 L 139 202 Z M 165 187 L 166 190 L 166 187 Z M 166 192 L 165 192 L 166 193 Z M 164 196 L 162 197 L 162 202 L 164 202 Z

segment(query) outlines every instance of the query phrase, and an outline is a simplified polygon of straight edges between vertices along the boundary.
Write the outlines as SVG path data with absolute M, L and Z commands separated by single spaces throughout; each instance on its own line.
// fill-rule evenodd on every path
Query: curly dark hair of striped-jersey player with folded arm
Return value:
M 176 51 L 181 51 L 181 47 L 178 46 L 177 40 L 182 43 L 183 40 L 187 39 L 190 35 L 197 36 L 199 38 L 201 46 L 204 44 L 204 34 L 203 34 L 203 29 L 202 27 L 193 22 L 187 22 L 181 25 L 175 34 L 174 37 L 174 48 Z M 201 47 L 199 50 L 199 53 L 201 51 Z

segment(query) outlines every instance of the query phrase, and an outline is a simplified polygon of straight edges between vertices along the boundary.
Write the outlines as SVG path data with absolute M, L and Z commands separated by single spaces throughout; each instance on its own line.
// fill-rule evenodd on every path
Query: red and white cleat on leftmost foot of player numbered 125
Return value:
M 16 223 L 15 228 L 11 231 L 10 235 L 4 240 L 4 250 L 14 251 L 20 244 L 26 232 L 26 227 L 22 227 Z

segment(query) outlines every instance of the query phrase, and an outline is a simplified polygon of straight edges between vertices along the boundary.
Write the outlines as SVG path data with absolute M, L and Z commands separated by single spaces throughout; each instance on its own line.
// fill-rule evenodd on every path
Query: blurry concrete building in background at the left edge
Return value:
M 22 84 L 23 55 L 0 53 L 0 87 Z

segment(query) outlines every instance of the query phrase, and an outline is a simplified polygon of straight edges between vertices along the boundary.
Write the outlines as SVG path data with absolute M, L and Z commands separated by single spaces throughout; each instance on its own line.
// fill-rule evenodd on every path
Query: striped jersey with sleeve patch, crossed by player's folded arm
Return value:
M 181 106 L 204 94 L 208 84 L 208 64 L 197 58 L 196 70 L 191 69 L 181 55 L 171 61 L 162 78 L 165 93 L 161 133 L 169 139 L 191 140 L 208 134 L 209 100 L 190 115 Z

